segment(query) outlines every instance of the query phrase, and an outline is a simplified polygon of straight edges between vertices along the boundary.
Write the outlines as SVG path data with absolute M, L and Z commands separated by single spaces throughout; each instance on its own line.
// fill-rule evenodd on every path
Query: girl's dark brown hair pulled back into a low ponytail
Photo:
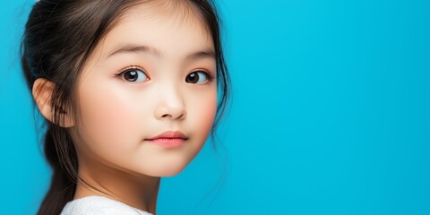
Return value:
M 86 59 L 125 11 L 148 0 L 40 0 L 31 9 L 22 38 L 22 70 L 30 91 L 44 78 L 55 84 L 51 96 L 53 122 L 44 119 L 44 152 L 53 170 L 51 185 L 38 214 L 59 214 L 72 201 L 78 176 L 78 159 L 72 138 L 62 125 L 64 109 L 75 110 L 75 86 Z M 188 0 L 202 14 L 211 33 L 217 58 L 220 98 L 211 128 L 212 142 L 230 95 L 230 78 L 219 33 L 214 3 Z M 215 145 L 212 145 L 215 149 Z M 216 150 L 216 149 L 215 149 Z

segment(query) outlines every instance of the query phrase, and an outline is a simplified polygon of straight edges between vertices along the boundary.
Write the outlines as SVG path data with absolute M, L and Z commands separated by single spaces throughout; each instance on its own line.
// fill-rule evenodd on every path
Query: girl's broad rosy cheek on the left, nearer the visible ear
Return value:
M 129 92 L 91 82 L 80 89 L 82 140 L 101 157 L 120 159 L 140 142 L 137 109 Z M 135 100 L 134 100 L 135 101 Z

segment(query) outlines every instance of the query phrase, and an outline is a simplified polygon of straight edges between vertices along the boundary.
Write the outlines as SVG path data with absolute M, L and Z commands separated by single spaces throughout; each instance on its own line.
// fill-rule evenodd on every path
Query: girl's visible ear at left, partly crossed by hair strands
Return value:
M 56 89 L 54 82 L 47 81 L 46 79 L 39 78 L 34 82 L 32 94 L 39 107 L 40 113 L 47 118 L 51 123 L 54 123 L 53 108 L 51 107 L 52 93 Z M 61 117 L 64 117 L 61 127 L 72 127 L 74 125 L 73 116 L 67 113 L 64 109 L 61 110 Z

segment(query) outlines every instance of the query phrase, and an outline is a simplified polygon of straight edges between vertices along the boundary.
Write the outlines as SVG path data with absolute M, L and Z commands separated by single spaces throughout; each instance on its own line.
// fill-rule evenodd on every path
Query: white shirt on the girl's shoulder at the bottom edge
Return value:
M 67 202 L 60 215 L 153 215 L 123 202 L 90 195 Z

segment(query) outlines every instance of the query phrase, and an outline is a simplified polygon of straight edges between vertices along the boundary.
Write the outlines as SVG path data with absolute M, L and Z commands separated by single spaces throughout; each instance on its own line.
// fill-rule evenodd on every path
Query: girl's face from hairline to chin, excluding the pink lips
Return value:
M 183 9 L 134 6 L 90 56 L 73 127 L 80 165 L 173 176 L 202 149 L 217 110 L 216 60 L 201 19 Z M 166 131 L 188 139 L 175 148 L 146 140 Z

